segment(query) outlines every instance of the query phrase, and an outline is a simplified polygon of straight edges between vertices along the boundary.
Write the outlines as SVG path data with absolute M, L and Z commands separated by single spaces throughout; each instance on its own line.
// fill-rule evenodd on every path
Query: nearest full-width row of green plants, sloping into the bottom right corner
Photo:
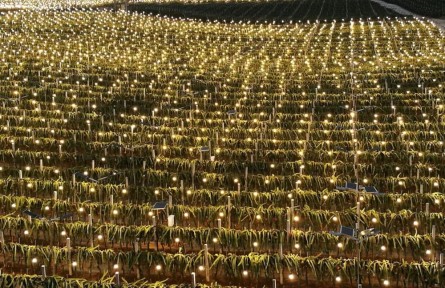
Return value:
M 9 250 L 11 249 L 11 250 Z M 3 247 L 3 254 L 10 254 L 14 259 L 25 259 L 26 257 L 37 256 L 43 259 L 53 259 L 55 264 L 62 264 L 66 261 L 66 250 L 55 247 L 43 247 L 36 249 L 33 246 L 15 244 L 11 247 Z M 309 283 L 308 275 L 317 279 L 316 283 L 332 283 L 337 277 L 343 276 L 345 281 L 353 281 L 356 274 L 357 267 L 364 277 L 368 278 L 369 284 L 372 283 L 371 277 L 377 279 L 391 279 L 392 282 L 397 282 L 399 285 L 416 285 L 425 280 L 430 284 L 443 281 L 443 268 L 436 263 L 430 262 L 388 262 L 386 260 L 362 260 L 359 265 L 354 260 L 350 259 L 334 259 L 332 257 L 301 257 L 295 254 L 279 255 L 276 254 L 259 254 L 249 253 L 248 255 L 224 255 L 224 254 L 207 254 L 209 259 L 209 267 L 212 271 L 213 277 L 218 278 L 222 275 L 230 275 L 231 277 L 242 278 L 249 277 L 251 279 L 258 279 L 262 277 L 277 277 L 280 271 L 285 271 L 300 279 L 302 283 Z M 122 271 L 124 269 L 153 269 L 163 271 L 166 275 L 184 275 L 187 272 L 198 271 L 198 266 L 203 265 L 204 252 L 198 254 L 169 254 L 160 252 L 126 252 L 113 253 L 112 251 L 100 251 L 95 248 L 81 249 L 76 251 L 73 259 L 77 259 L 78 269 L 88 270 L 85 266 L 98 265 L 108 266 L 109 263 L 118 263 L 116 270 Z M 23 260 L 18 260 L 15 265 L 18 265 Z M 45 263 L 50 264 L 48 260 Z M 53 264 L 54 265 L 54 264 Z M 155 267 L 158 267 L 155 269 Z M 161 268 L 159 268 L 161 267 Z M 60 269 L 57 268 L 57 269 Z M 243 273 L 243 271 L 250 271 L 250 275 Z M 12 280 L 6 274 L 5 278 Z M 41 277 L 41 276 L 39 276 Z M 18 277 L 17 279 L 20 279 Z M 25 278 L 26 279 L 26 278 Z M 46 281 L 55 279 L 49 278 Z M 69 279 L 67 279 L 69 281 Z M 78 279 L 80 283 L 83 281 Z M 337 280 L 338 281 L 338 280 Z M 79 283 L 77 282 L 77 284 Z M 100 281 L 102 282 L 102 281 Z M 100 283 L 99 282 L 99 283 Z M 103 284 L 110 283 L 110 278 L 105 278 Z M 143 281 L 140 282 L 143 286 Z M 76 285 L 76 282 L 73 283 Z M 129 283 L 130 284 L 130 283 Z M 351 283 L 352 284 L 352 283 Z M 76 287 L 76 286 L 74 286 Z M 89 287 L 89 286 L 88 286 Z M 102 287 L 102 286 L 100 286 Z M 106 287 L 106 286 L 105 286 Z M 141 286 L 139 286 L 141 287 Z M 143 286 L 145 287 L 145 286 Z

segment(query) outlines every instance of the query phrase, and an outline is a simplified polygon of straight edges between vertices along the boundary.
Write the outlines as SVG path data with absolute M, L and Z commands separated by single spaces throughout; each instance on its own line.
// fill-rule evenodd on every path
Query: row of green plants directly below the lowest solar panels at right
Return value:
M 141 241 L 148 245 L 156 240 L 162 247 L 166 245 L 169 249 L 171 249 L 172 245 L 177 245 L 177 241 L 180 241 L 185 249 L 192 251 L 199 249 L 199 247 L 207 243 L 213 245 L 214 249 L 223 249 L 223 251 L 232 253 L 249 251 L 251 249 L 257 251 L 270 251 L 272 249 L 272 251 L 277 251 L 279 248 L 278 243 L 283 243 L 289 251 L 303 254 L 313 254 L 316 251 L 323 251 L 324 254 L 332 256 L 338 255 L 340 251 L 348 254 L 353 253 L 356 248 L 354 241 L 347 239 L 344 241 L 328 233 L 329 229 L 337 227 L 338 224 L 335 223 L 337 221 L 328 219 L 323 227 L 325 232 L 317 232 L 319 230 L 316 227 L 313 228 L 316 229 L 314 232 L 311 231 L 312 229 L 301 229 L 303 225 L 295 222 L 293 224 L 294 228 L 289 233 L 285 229 L 249 230 L 244 228 L 244 230 L 238 230 L 224 227 L 122 226 L 109 223 L 95 223 L 91 226 L 85 222 L 58 224 L 48 221 L 28 222 L 24 219 L 18 221 L 13 217 L 2 217 L 1 228 L 4 231 L 6 240 L 21 239 L 24 242 L 38 241 L 42 244 L 48 243 L 52 245 L 56 245 L 56 243 L 58 243 L 57 245 L 63 245 L 64 237 L 71 237 L 73 245 L 83 245 L 83 243 L 93 240 L 97 245 L 103 247 L 110 247 L 111 245 L 111 248 L 114 249 L 117 248 L 114 245 L 128 247 L 128 245 L 133 245 L 135 241 Z M 343 224 L 347 225 L 347 223 Z M 381 228 L 379 222 L 370 224 L 379 229 Z M 390 257 L 389 255 L 396 253 L 397 258 L 411 257 L 417 259 L 418 257 L 427 257 L 425 253 L 428 249 L 441 251 L 445 244 L 444 235 L 437 234 L 434 236 L 435 238 L 432 238 L 431 234 L 429 234 L 432 226 L 424 223 L 420 225 L 425 226 L 425 229 L 422 229 L 421 226 L 417 228 L 419 231 L 425 230 L 426 234 L 417 234 L 417 232 L 415 235 L 385 233 L 375 238 L 364 240 L 362 245 L 366 247 L 366 255 L 370 257 L 369 255 L 374 255 L 375 252 L 379 254 L 383 246 L 385 247 L 384 251 L 388 252 L 380 251 L 381 255 Z M 436 226 L 436 228 L 440 231 L 441 227 Z M 26 234 L 24 231 L 27 231 Z M 336 249 L 339 241 L 345 242 L 345 246 L 341 249 Z

